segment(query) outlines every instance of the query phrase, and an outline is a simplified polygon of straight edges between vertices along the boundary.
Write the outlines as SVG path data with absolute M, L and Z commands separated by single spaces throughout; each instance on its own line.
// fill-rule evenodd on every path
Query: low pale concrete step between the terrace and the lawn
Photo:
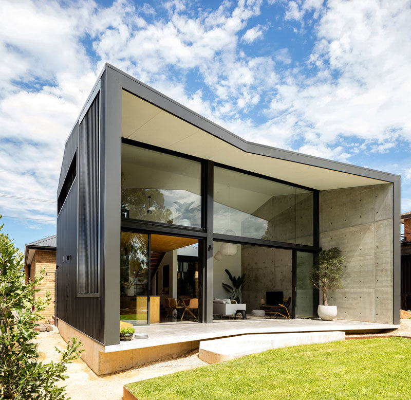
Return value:
M 199 358 L 213 364 L 263 351 L 345 340 L 345 332 L 303 332 L 242 335 L 200 342 Z

